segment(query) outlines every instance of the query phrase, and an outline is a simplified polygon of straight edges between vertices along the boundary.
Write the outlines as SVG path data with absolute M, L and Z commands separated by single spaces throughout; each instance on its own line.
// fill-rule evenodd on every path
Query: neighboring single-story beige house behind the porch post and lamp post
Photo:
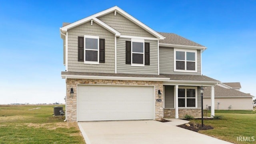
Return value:
M 240 92 L 240 82 L 220 83 L 214 87 L 216 110 L 252 110 L 254 96 Z M 204 109 L 212 106 L 210 90 L 204 90 Z

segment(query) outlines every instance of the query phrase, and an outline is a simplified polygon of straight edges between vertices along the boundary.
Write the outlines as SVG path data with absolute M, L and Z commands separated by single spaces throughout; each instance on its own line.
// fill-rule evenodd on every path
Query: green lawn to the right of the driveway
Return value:
M 224 118 L 222 120 L 204 120 L 205 125 L 213 126 L 214 129 L 200 130 L 199 133 L 206 134 L 208 136 L 212 136 L 218 139 L 226 140 L 228 142 L 232 142 L 235 144 L 256 143 L 255 111 L 216 110 L 215 115 L 223 115 Z M 192 121 L 201 124 L 200 119 Z M 238 141 L 239 136 L 244 137 L 244 139 L 246 139 L 247 137 L 247 141 Z

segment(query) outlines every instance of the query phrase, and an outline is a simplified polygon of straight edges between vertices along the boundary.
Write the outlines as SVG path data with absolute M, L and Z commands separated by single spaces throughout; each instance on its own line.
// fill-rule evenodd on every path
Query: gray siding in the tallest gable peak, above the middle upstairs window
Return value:
M 106 14 L 104 16 L 98 17 L 99 20 L 108 24 L 115 30 L 121 33 L 121 35 L 126 36 L 142 36 L 154 38 L 152 34 L 141 28 L 140 26 L 134 24 L 118 12 L 114 16 L 114 12 Z

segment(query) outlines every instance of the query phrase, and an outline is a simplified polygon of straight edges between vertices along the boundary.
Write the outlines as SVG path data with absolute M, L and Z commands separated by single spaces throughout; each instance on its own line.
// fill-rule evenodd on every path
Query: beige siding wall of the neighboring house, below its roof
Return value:
M 203 101 L 204 108 L 212 106 L 211 98 L 204 98 Z M 228 110 L 230 105 L 230 110 L 252 110 L 252 98 L 214 98 L 215 110 Z

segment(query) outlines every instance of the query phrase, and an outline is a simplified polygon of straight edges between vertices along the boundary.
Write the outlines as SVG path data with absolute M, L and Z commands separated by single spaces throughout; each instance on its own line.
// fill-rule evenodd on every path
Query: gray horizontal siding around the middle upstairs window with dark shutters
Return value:
M 127 74 L 158 74 L 158 58 L 157 58 L 157 40 L 145 40 L 150 43 L 150 65 L 149 66 L 131 66 L 126 64 L 126 48 L 125 41 L 131 40 L 129 38 L 117 38 L 116 44 L 116 64 L 117 73 Z

